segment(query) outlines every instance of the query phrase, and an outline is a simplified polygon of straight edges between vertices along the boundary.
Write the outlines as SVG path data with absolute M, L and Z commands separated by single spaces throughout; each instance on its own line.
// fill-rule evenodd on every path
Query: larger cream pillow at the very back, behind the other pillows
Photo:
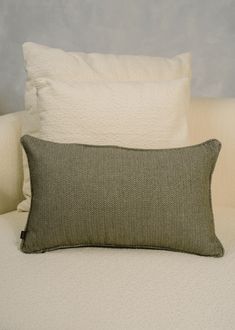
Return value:
M 180 54 L 173 58 L 113 55 L 81 52 L 65 52 L 32 42 L 23 45 L 27 72 L 25 90 L 26 115 L 22 134 L 38 136 L 39 117 L 35 80 L 49 78 L 64 82 L 76 81 L 162 81 L 191 78 L 191 56 Z M 120 95 L 121 97 L 121 95 Z M 112 104 L 110 104 L 112 111 Z M 131 125 L 131 122 L 129 123 Z M 18 209 L 28 211 L 30 206 L 30 182 L 28 163 L 23 155 L 25 201 Z

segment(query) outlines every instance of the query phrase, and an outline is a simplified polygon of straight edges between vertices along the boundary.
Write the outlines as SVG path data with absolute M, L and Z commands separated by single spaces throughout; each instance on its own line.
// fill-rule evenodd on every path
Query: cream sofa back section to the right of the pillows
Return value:
M 189 123 L 191 143 L 212 137 L 222 142 L 213 174 L 213 200 L 217 205 L 235 206 L 235 99 L 194 99 Z

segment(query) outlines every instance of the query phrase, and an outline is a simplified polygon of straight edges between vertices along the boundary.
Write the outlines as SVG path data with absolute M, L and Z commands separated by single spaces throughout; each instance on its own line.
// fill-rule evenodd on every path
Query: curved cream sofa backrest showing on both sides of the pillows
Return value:
M 0 116 L 0 214 L 22 199 L 23 112 Z M 217 138 L 222 150 L 213 175 L 213 202 L 235 207 L 235 99 L 195 98 L 189 113 L 191 143 Z

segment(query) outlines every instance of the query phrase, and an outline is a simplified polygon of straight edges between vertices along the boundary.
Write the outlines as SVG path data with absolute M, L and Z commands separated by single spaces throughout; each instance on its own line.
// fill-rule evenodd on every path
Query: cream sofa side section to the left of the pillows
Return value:
M 15 210 L 23 199 L 22 115 L 15 112 L 0 116 L 0 214 Z

